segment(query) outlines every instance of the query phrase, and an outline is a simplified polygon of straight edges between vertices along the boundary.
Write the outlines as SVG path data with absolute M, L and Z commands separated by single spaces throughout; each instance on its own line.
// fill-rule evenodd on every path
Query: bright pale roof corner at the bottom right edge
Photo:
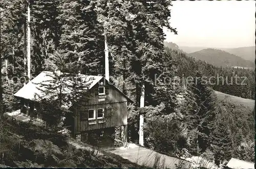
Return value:
M 234 168 L 234 169 L 240 169 L 240 168 L 253 168 L 254 169 L 254 163 L 243 161 L 243 160 L 236 159 L 236 158 L 231 158 L 228 161 L 226 166 L 229 168 Z

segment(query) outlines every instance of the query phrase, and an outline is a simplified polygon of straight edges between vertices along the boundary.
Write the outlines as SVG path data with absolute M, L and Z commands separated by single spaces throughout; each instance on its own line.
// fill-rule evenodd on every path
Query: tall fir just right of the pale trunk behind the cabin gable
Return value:
M 130 1 L 92 1 L 95 4 L 97 20 L 103 28 L 105 47 L 109 54 L 110 80 L 122 79 L 122 89 L 130 78 L 130 60 L 133 53 L 133 15 Z M 106 50 L 106 49 L 105 49 Z M 108 57 L 108 56 L 105 56 Z M 107 67 L 105 67 L 107 68 Z

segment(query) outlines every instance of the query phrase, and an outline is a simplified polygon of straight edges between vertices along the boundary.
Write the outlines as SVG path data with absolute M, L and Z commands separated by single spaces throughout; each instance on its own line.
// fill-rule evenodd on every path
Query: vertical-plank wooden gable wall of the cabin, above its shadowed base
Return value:
M 75 134 L 127 125 L 127 98 L 113 85 L 108 83 L 100 85 L 99 83 L 88 91 L 89 98 L 87 101 L 81 101 L 72 106 L 75 115 Z M 99 95 L 98 87 L 104 87 L 105 94 Z M 98 118 L 98 109 L 103 109 L 103 118 Z M 89 110 L 95 110 L 95 119 L 88 118 Z

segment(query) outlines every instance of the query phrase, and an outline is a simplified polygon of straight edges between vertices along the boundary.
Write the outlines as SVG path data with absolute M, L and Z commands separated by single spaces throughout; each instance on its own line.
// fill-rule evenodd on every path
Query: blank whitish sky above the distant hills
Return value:
M 179 46 L 255 45 L 255 1 L 174 1 L 166 41 Z

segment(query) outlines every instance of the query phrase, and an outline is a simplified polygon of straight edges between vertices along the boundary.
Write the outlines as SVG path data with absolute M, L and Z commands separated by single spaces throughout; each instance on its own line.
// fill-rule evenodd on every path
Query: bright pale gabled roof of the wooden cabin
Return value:
M 84 82 L 84 85 L 88 85 L 87 90 L 90 90 L 96 83 L 98 83 L 103 76 L 89 76 L 89 75 L 78 75 L 79 78 L 82 79 L 82 82 Z M 23 86 L 21 89 L 19 89 L 14 96 L 18 98 L 24 98 L 31 101 L 37 101 L 39 100 L 39 97 L 45 98 L 47 97 L 45 93 L 42 91 L 44 90 L 44 85 L 50 85 L 54 77 L 54 73 L 52 71 L 42 71 L 39 75 L 37 75 L 34 79 L 32 79 L 29 83 L 27 83 L 25 86 Z M 106 82 L 109 82 L 105 80 Z M 111 86 L 116 88 L 114 85 L 109 83 Z M 127 101 L 132 102 L 131 99 L 129 99 L 124 93 L 122 93 L 118 88 L 116 88 L 122 95 L 125 96 Z M 69 88 L 63 88 L 64 92 L 71 92 Z M 71 105 L 66 107 L 70 107 Z

